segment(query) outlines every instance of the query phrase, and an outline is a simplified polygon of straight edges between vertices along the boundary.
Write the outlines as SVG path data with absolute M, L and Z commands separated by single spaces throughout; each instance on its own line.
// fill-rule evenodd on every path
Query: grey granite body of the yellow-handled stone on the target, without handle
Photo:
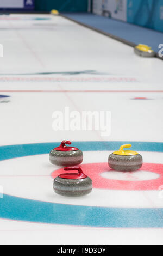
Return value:
M 108 164 L 111 169 L 122 172 L 131 172 L 142 167 L 143 159 L 140 154 L 137 155 L 109 155 Z

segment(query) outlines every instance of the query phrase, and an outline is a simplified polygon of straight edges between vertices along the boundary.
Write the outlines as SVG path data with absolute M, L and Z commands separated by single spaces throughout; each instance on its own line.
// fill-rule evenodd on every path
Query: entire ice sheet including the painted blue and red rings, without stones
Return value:
M 162 60 L 60 16 L 2 15 L 0 244 L 163 244 Z M 111 111 L 111 135 L 54 131 L 54 111 Z M 61 197 L 48 153 L 63 140 L 83 150 L 91 194 Z M 130 143 L 130 174 L 108 156 Z

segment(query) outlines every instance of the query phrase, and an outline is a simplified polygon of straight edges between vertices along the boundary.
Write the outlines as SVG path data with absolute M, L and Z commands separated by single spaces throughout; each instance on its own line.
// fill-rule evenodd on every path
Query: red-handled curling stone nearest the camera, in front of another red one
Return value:
M 54 179 L 55 193 L 68 197 L 85 196 L 92 191 L 92 180 L 80 167 L 65 167 L 64 170 L 78 170 L 78 173 L 63 173 Z

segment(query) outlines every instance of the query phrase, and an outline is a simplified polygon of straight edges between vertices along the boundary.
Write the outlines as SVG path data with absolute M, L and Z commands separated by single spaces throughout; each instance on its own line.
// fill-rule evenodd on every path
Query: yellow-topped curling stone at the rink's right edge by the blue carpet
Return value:
M 155 57 L 155 52 L 152 50 L 152 47 L 149 47 L 148 45 L 139 44 L 135 46 L 134 52 L 137 55 L 142 57 L 148 57 L 148 58 Z

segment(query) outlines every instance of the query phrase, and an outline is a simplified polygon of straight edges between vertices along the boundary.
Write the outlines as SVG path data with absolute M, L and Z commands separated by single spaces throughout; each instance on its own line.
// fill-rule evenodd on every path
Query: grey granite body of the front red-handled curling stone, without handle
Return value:
M 85 179 L 62 179 L 57 177 L 53 182 L 55 193 L 68 197 L 85 196 L 92 191 L 92 180 Z

